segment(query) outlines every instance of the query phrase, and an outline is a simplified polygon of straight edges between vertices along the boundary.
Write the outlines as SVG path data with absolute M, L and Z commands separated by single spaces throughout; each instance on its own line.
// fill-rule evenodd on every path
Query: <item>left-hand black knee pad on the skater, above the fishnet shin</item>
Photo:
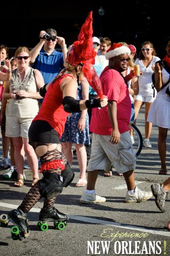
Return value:
M 50 199 L 61 194 L 63 184 L 59 177 L 56 173 L 44 173 L 44 177 L 37 181 L 42 197 Z

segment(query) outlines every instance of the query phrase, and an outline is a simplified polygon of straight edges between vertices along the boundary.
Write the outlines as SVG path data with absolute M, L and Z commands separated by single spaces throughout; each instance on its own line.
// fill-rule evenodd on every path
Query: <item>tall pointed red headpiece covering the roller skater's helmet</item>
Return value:
M 76 66 L 78 63 L 91 62 L 94 64 L 96 52 L 93 49 L 92 41 L 92 11 L 83 24 L 78 36 L 78 41 L 75 41 L 67 53 L 66 61 L 71 66 Z

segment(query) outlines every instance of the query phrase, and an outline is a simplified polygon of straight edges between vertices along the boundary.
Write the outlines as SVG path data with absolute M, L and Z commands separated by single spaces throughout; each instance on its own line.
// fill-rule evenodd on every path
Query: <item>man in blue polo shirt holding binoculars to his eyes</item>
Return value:
M 32 68 L 41 72 L 44 82 L 50 83 L 65 66 L 67 46 L 65 39 L 57 36 L 55 29 L 40 31 L 39 38 L 39 43 L 30 51 L 30 63 Z M 55 50 L 57 43 L 62 53 Z

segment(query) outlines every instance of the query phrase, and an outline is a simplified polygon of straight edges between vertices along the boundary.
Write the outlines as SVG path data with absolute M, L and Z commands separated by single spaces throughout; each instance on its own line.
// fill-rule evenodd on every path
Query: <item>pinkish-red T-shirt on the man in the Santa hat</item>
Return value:
M 129 131 L 131 116 L 131 100 L 127 83 L 118 71 L 106 67 L 100 76 L 103 94 L 108 100 L 117 102 L 117 123 L 119 133 Z M 90 131 L 99 135 L 111 135 L 112 126 L 108 115 L 108 107 L 92 109 Z

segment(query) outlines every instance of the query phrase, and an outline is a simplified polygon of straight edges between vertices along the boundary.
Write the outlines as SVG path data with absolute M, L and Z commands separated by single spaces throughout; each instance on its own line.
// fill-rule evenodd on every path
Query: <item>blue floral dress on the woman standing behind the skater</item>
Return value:
M 82 87 L 81 84 L 78 85 L 77 90 L 77 100 L 82 99 Z M 81 112 L 72 113 L 71 116 L 67 117 L 64 132 L 61 136 L 61 142 L 70 142 L 75 144 L 89 144 L 89 119 L 88 114 L 86 114 L 86 126 L 83 131 L 79 131 L 78 122 L 81 117 Z

